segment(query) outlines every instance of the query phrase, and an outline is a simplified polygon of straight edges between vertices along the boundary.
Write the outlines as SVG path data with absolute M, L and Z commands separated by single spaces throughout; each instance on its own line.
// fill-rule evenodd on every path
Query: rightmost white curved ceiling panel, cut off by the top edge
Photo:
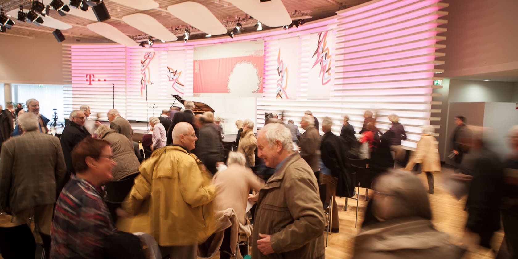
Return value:
M 225 0 L 251 17 L 269 27 L 279 27 L 292 23 L 290 14 L 281 0 L 260 2 L 259 0 Z

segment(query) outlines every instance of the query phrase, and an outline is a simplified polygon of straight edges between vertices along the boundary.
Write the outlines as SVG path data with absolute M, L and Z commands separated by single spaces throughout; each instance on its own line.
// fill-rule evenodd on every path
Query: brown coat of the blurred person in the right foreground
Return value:
M 353 259 L 456 259 L 463 249 L 429 220 L 395 219 L 369 225 L 356 236 Z

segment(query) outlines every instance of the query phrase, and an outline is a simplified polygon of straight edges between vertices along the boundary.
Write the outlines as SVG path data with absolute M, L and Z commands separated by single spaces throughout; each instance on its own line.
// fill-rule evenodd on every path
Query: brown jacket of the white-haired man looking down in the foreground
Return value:
M 316 178 L 295 152 L 259 192 L 252 234 L 252 258 L 324 258 L 324 212 Z M 271 235 L 275 253 L 257 249 L 261 234 Z

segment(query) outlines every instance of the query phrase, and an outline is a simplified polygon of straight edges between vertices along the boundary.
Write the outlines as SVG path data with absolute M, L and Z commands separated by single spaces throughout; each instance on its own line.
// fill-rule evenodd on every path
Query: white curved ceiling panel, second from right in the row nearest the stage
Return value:
M 167 7 L 167 10 L 171 15 L 174 15 L 204 33 L 212 35 L 227 33 L 225 26 L 202 4 L 187 1 L 171 5 Z

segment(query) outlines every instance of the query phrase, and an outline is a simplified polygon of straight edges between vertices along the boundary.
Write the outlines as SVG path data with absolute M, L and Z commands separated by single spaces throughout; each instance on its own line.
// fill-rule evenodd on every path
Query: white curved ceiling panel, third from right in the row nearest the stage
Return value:
M 124 16 L 122 17 L 122 20 L 137 28 L 137 30 L 147 33 L 156 39 L 165 41 L 175 41 L 178 39 L 174 34 L 167 30 L 162 23 L 145 13 L 134 13 L 133 15 Z

